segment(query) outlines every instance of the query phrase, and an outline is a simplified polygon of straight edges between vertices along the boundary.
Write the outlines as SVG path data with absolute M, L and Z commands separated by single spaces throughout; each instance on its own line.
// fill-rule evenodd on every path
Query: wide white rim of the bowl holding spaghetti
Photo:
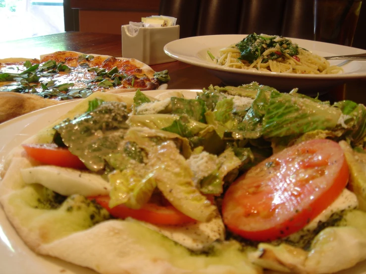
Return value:
M 195 48 L 195 47 L 186 47 L 186 52 L 184 54 L 177 52 L 177 46 L 182 45 L 183 43 L 193 45 L 195 46 L 195 43 L 199 42 L 200 40 L 208 40 L 208 39 L 215 39 L 217 44 L 213 44 L 213 46 L 229 46 L 230 44 L 225 44 L 225 42 L 228 39 L 233 39 L 233 41 L 241 41 L 243 40 L 247 34 L 229 34 L 229 35 L 206 35 L 206 36 L 195 36 L 195 37 L 188 37 L 183 38 L 179 40 L 172 41 L 164 46 L 164 52 L 169 55 L 170 57 L 184 62 L 191 65 L 216 70 L 216 71 L 223 71 L 223 72 L 229 72 L 234 74 L 243 74 L 243 75 L 256 75 L 256 76 L 271 76 L 276 78 L 293 78 L 293 79 L 316 79 L 316 80 L 332 80 L 332 79 L 357 79 L 357 78 L 366 78 L 366 70 L 363 70 L 359 73 L 347 73 L 347 74 L 331 74 L 331 75 L 312 75 L 312 74 L 291 74 L 291 73 L 276 73 L 276 72 L 265 72 L 265 71 L 251 71 L 251 70 L 243 70 L 243 69 L 236 69 L 236 68 L 228 68 L 219 66 L 213 63 L 206 62 L 205 60 L 202 60 L 197 57 L 197 53 L 199 50 L 204 49 L 203 47 Z M 317 41 L 311 41 L 311 40 L 305 40 L 305 39 L 298 39 L 298 38 L 289 38 L 292 40 L 292 42 L 297 43 L 299 46 L 302 46 L 304 44 L 312 43 L 315 46 L 321 46 L 321 47 L 327 47 L 331 49 L 343 49 L 343 50 L 352 50 L 352 54 L 356 53 L 366 53 L 366 50 L 356 47 L 350 47 L 350 46 L 341 46 L 341 45 L 335 45 L 335 44 L 329 44 L 324 42 L 317 42 Z M 306 47 L 306 46 L 303 46 Z M 209 47 L 207 47 L 209 48 Z M 349 53 L 351 54 L 351 53 Z M 338 54 L 333 51 L 333 55 L 343 55 Z M 365 62 L 365 61 L 358 61 L 358 62 Z

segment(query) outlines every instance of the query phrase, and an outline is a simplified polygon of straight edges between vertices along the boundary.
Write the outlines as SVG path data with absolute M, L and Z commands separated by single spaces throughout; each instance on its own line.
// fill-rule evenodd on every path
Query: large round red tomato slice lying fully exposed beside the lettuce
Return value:
M 348 166 L 338 143 L 316 139 L 289 147 L 239 177 L 222 202 L 226 226 L 256 241 L 305 227 L 342 192 Z

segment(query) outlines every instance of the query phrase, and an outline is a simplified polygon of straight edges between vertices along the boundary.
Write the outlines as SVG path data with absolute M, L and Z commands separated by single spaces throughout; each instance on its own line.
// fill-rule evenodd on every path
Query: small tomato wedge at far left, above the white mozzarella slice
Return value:
M 22 144 L 33 159 L 46 164 L 66 168 L 85 169 L 84 163 L 64 147 L 54 144 Z

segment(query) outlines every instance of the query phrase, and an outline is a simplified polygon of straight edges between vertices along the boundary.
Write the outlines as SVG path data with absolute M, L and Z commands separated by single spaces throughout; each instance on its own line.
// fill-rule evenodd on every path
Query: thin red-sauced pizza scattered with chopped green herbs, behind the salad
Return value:
M 167 71 L 156 73 L 136 59 L 74 51 L 57 51 L 40 59 L 3 59 L 0 60 L 0 101 L 8 106 L 0 108 L 0 122 L 26 113 L 21 109 L 35 110 L 56 103 L 32 95 L 60 101 L 85 98 L 95 91 L 156 90 L 168 81 Z M 26 102 L 29 97 L 32 102 L 20 107 L 17 101 Z

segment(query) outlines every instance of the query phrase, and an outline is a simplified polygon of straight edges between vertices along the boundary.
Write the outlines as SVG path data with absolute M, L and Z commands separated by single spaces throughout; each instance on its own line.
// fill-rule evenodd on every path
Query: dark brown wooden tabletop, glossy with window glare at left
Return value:
M 120 35 L 66 32 L 0 43 L 0 58 L 39 58 L 41 54 L 57 50 L 74 50 L 83 53 L 105 54 L 115 57 L 122 55 Z M 223 86 L 220 79 L 206 69 L 174 61 L 151 66 L 155 71 L 167 69 L 171 81 L 169 89 L 203 89 L 209 85 Z M 366 104 L 366 79 L 354 80 L 322 95 L 321 99 L 340 100 L 342 98 Z M 275 88 L 275 87 L 274 87 Z

